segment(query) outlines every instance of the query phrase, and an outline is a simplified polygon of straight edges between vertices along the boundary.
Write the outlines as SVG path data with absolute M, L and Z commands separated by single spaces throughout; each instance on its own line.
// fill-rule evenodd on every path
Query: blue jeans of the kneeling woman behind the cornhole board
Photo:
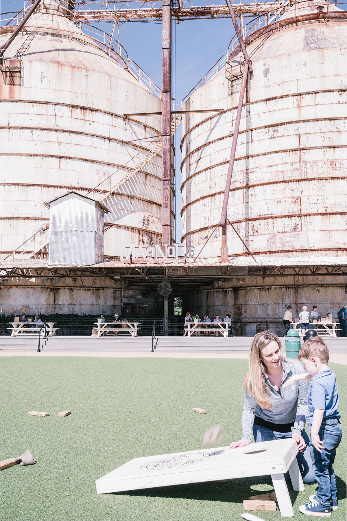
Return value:
M 258 443 L 259 441 L 274 441 L 281 440 L 283 438 L 291 438 L 291 432 L 276 432 L 275 430 L 266 429 L 265 427 L 259 427 L 258 425 L 253 425 L 253 436 L 255 442 Z M 314 464 L 310 440 L 304 430 L 302 431 L 301 436 L 305 440 L 306 448 L 303 452 L 298 452 L 297 461 L 299 464 L 303 482 L 306 483 L 306 485 L 311 485 L 312 483 L 315 483 L 316 477 L 314 473 Z M 288 481 L 289 476 L 287 476 L 287 474 L 286 480 Z

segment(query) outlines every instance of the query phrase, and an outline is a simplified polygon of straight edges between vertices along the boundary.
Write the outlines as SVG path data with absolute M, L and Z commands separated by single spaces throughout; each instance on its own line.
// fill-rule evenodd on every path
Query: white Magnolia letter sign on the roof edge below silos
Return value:
M 169 244 L 163 244 L 163 249 L 157 242 L 153 243 L 153 246 L 135 246 L 135 244 L 122 244 L 121 245 L 121 259 L 179 259 L 184 257 L 195 257 L 194 246 L 183 246 L 181 242 L 175 242 L 172 246 Z

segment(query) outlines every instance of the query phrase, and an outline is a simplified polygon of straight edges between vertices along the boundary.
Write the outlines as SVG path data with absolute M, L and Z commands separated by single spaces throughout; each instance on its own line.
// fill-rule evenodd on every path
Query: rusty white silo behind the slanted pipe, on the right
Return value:
M 254 254 L 346 253 L 347 14 L 320 2 L 293 5 L 246 35 L 248 80 L 227 217 Z M 234 52 L 233 52 L 234 51 Z M 202 246 L 220 221 L 242 59 L 230 47 L 185 98 L 183 239 Z M 225 61 L 224 60 L 224 63 Z M 247 254 L 227 225 L 228 253 Z M 203 250 L 219 257 L 220 228 Z

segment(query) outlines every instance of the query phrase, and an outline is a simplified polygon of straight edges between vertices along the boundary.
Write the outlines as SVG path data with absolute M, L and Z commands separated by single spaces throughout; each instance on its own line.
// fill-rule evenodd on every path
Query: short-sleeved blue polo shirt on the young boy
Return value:
M 320 371 L 311 379 L 311 386 L 307 394 L 309 410 L 306 414 L 307 423 L 312 425 L 313 412 L 315 409 L 323 409 L 323 420 L 328 418 L 340 418 L 339 393 L 336 376 L 330 367 Z

